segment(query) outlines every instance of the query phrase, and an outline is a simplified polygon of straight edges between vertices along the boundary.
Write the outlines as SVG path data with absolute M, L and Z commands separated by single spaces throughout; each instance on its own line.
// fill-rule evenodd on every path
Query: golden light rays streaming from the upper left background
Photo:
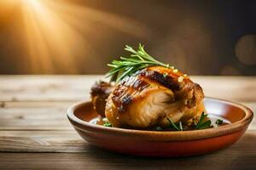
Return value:
M 20 8 L 27 62 L 33 73 L 79 73 L 79 59 L 97 58 L 90 40 L 101 31 L 100 22 L 134 37 L 147 37 L 149 32 L 137 20 L 89 8 L 68 0 L 2 0 L 0 11 Z M 0 19 L 3 13 L 0 13 Z M 4 16 L 5 17 L 5 16 Z M 17 29 L 17 28 L 15 28 Z M 56 64 L 61 65 L 57 68 Z M 93 68 L 93 65 L 88 65 Z

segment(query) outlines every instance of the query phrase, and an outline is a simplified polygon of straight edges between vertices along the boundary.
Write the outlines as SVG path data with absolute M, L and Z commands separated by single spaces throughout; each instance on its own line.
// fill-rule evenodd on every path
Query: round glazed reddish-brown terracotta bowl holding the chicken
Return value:
M 83 139 L 106 150 L 136 156 L 195 156 L 234 144 L 253 119 L 253 111 L 241 104 L 210 98 L 204 103 L 207 113 L 222 116 L 231 123 L 178 132 L 103 127 L 90 122 L 98 116 L 90 102 L 73 105 L 68 109 L 67 117 Z

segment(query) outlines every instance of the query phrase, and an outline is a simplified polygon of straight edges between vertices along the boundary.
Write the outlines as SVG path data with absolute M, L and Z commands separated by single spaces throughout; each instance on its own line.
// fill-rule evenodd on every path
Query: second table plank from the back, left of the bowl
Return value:
M 16 105 L 0 108 L 0 130 L 65 130 L 73 129 L 67 120 L 67 103 L 63 105 Z

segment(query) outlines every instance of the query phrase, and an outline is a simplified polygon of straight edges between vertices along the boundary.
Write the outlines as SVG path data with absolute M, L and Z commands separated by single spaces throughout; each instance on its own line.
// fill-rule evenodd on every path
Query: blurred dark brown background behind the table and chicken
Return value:
M 256 1 L 52 1 L 73 7 L 63 8 L 64 17 L 45 4 L 76 36 L 51 23 L 49 32 L 63 31 L 63 50 L 49 40 L 41 53 L 42 39 L 51 35 L 24 36 L 20 4 L 0 8 L 0 74 L 103 74 L 125 44 L 142 42 L 149 54 L 190 75 L 256 75 Z M 28 37 L 36 48 L 27 48 Z

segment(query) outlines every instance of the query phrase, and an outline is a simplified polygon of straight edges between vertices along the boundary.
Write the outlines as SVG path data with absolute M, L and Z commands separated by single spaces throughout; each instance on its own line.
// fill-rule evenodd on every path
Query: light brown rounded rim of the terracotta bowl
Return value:
M 221 102 L 226 105 L 233 105 L 240 108 L 245 112 L 245 116 L 238 122 L 234 122 L 223 127 L 214 127 L 201 130 L 189 130 L 189 131 L 147 131 L 147 130 L 136 130 L 136 129 L 125 129 L 118 127 L 104 127 L 90 122 L 85 122 L 79 117 L 74 115 L 74 111 L 81 107 L 82 105 L 89 105 L 90 101 L 82 101 L 77 104 L 72 105 L 67 110 L 67 118 L 73 124 L 73 127 L 78 128 L 81 131 L 87 132 L 97 132 L 105 134 L 114 134 L 121 136 L 132 136 L 138 138 L 144 138 L 149 140 L 157 141 L 184 141 L 184 140 L 194 140 L 194 139 L 208 139 L 214 138 L 222 135 L 227 135 L 230 133 L 236 133 L 244 128 L 247 128 L 249 123 L 253 120 L 253 111 L 247 106 L 241 105 L 236 102 L 232 102 L 225 99 L 217 98 L 205 98 L 207 100 L 213 100 L 216 102 Z

